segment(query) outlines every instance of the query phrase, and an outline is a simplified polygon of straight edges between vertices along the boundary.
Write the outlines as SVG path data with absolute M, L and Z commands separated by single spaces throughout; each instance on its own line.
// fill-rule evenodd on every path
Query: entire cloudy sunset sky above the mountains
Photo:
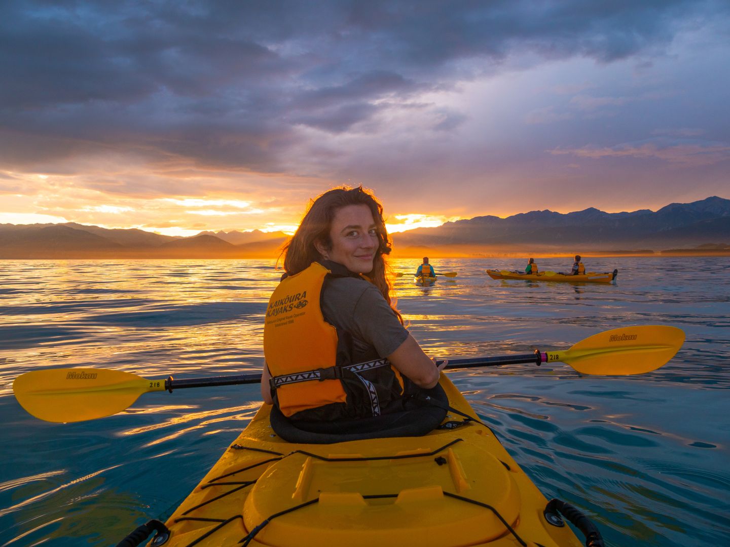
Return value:
M 0 3 L 0 222 L 393 230 L 730 198 L 730 2 Z

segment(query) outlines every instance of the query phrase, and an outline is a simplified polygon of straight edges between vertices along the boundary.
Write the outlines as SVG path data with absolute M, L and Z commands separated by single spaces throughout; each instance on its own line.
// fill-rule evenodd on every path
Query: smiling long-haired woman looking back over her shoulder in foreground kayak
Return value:
M 385 276 L 390 252 L 369 191 L 335 188 L 310 203 L 266 310 L 261 395 L 275 406 L 272 427 L 274 411 L 296 427 L 398 413 L 437 386 L 446 363 L 404 328 Z

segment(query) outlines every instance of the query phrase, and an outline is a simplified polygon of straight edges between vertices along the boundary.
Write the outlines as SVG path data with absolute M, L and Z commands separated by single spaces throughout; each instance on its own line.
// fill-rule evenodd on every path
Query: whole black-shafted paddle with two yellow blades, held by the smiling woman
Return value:
M 583 374 L 641 374 L 654 371 L 672 359 L 684 338 L 683 331 L 675 327 L 625 327 L 595 334 L 570 349 L 450 359 L 446 368 L 564 362 Z M 183 380 L 173 380 L 171 376 L 166 380 L 148 380 L 106 368 L 53 368 L 21 374 L 13 382 L 12 389 L 18 403 L 37 418 L 47 422 L 82 422 L 117 414 L 147 392 L 259 382 L 261 374 Z

